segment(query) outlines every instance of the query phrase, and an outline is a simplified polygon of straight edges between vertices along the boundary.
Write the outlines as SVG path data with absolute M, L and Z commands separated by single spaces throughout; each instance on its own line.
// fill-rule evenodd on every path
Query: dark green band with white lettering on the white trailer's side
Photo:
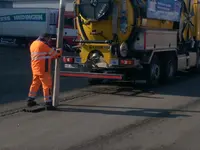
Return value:
M 0 16 L 0 22 L 10 21 L 46 21 L 45 13 L 15 14 Z

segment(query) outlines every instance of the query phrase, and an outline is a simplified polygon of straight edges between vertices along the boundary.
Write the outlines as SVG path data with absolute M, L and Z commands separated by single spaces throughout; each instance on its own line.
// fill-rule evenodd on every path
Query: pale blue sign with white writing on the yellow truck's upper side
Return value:
M 148 0 L 147 18 L 179 22 L 181 7 L 179 0 Z

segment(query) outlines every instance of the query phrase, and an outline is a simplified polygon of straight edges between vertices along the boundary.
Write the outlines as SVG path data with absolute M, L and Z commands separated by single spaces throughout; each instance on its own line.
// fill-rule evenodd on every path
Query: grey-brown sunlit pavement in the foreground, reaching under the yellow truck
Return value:
M 199 150 L 199 82 L 192 75 L 151 90 L 88 87 L 40 113 L 3 114 L 16 104 L 1 105 L 0 150 Z

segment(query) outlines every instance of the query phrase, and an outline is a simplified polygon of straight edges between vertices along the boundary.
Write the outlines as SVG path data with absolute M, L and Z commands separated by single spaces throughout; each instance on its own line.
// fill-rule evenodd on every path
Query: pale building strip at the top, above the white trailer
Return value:
M 5 0 L 6 1 L 6 0 Z M 59 0 L 7 0 L 13 2 L 13 8 L 59 8 Z M 66 10 L 73 11 L 73 0 L 66 0 Z

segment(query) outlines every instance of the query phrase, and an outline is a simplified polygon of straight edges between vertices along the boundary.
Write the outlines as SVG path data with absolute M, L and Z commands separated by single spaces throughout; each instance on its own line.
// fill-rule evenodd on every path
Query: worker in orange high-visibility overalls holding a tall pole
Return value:
M 51 60 L 61 56 L 62 50 L 51 48 L 48 43 L 51 36 L 47 33 L 39 36 L 30 46 L 31 68 L 32 68 L 32 84 L 28 94 L 27 106 L 32 107 L 37 105 L 35 97 L 37 91 L 42 85 L 45 106 L 52 106 L 52 77 L 51 77 Z

